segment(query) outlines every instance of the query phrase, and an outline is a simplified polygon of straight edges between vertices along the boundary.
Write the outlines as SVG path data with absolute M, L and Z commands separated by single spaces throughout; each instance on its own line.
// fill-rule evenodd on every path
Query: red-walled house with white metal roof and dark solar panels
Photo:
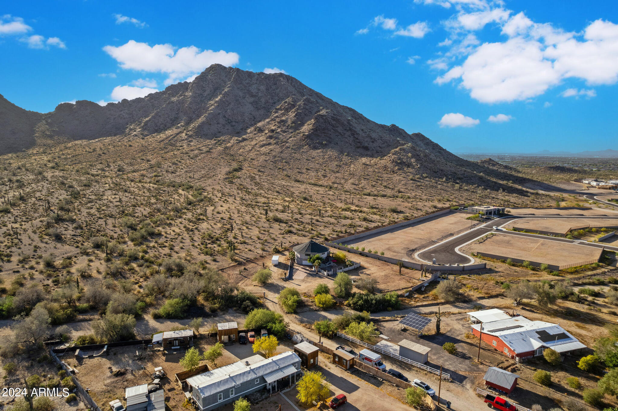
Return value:
M 472 333 L 477 337 L 480 327 L 481 324 L 472 325 Z M 483 341 L 518 361 L 543 355 L 546 348 L 568 354 L 586 347 L 557 324 L 531 321 L 522 316 L 483 323 L 482 331 Z

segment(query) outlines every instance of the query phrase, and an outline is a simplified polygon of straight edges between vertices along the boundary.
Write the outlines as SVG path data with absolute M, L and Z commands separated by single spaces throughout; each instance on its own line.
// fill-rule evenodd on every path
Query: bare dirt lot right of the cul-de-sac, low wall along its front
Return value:
M 546 239 L 496 233 L 462 248 L 464 252 L 500 255 L 553 265 L 578 264 L 598 260 L 602 250 L 579 244 L 556 243 Z

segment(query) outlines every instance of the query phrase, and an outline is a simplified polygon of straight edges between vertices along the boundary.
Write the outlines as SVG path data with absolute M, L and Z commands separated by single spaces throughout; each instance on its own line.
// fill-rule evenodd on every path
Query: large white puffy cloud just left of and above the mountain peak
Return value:
M 231 66 L 238 64 L 240 59 L 235 52 L 202 51 L 195 46 L 176 48 L 171 44 L 150 46 L 135 40 L 122 46 L 105 46 L 103 50 L 126 70 L 166 73 L 166 85 L 200 73 L 212 64 Z

